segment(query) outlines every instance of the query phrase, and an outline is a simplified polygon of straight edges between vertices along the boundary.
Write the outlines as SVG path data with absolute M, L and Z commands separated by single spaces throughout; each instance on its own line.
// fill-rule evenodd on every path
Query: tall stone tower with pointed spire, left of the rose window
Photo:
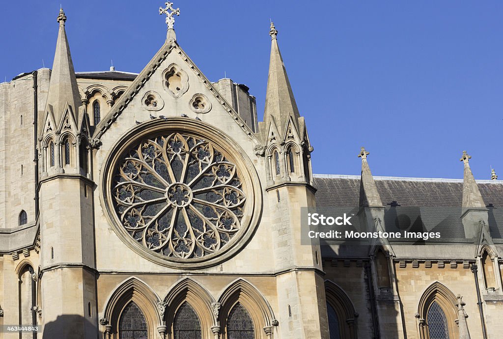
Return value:
M 44 337 L 91 338 L 96 337 L 97 325 L 92 323 L 96 277 L 89 122 L 80 105 L 62 9 L 57 21 L 56 52 L 38 138 L 42 297 L 37 308 Z

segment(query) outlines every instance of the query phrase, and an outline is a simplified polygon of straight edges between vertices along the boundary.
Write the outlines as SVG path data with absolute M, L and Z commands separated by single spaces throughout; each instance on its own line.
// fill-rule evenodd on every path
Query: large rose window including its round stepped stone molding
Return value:
M 114 230 L 139 255 L 187 269 L 217 265 L 250 239 L 262 212 L 257 172 L 214 127 L 151 120 L 112 148 L 102 199 Z

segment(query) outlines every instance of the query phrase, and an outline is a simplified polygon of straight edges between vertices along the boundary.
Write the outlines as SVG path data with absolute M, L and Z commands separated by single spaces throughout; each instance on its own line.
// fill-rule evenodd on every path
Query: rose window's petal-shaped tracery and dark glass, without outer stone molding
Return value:
M 129 147 L 112 197 L 121 227 L 168 258 L 211 255 L 240 230 L 246 197 L 236 165 L 214 143 L 172 133 Z

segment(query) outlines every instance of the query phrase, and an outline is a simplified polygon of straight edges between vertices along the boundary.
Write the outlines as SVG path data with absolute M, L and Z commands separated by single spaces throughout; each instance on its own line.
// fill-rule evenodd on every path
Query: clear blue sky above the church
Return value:
M 2 5 L 0 79 L 51 67 L 60 1 Z M 139 72 L 165 39 L 161 1 L 62 4 L 76 71 Z M 269 19 L 315 173 L 503 179 L 503 2 L 178 1 L 179 44 L 212 81 L 245 83 L 264 111 Z

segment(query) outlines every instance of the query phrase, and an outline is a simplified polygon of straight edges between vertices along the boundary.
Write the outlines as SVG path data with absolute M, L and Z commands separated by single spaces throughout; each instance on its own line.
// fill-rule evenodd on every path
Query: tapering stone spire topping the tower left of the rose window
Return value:
M 63 110 L 68 103 L 73 110 L 75 118 L 80 106 L 80 95 L 77 88 L 77 79 L 71 61 L 70 47 L 66 38 L 65 22 L 66 15 L 63 9 L 59 10 L 57 17 L 59 23 L 58 39 L 56 42 L 56 52 L 52 65 L 51 79 L 49 82 L 49 93 L 47 95 L 47 105 L 52 106 L 56 123 L 63 115 Z

